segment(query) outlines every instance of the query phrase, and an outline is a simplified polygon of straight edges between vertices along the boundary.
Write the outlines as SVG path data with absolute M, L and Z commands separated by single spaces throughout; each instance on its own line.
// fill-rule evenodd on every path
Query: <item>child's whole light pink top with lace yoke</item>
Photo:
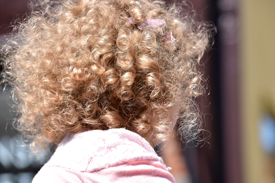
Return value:
M 68 134 L 32 183 L 175 183 L 150 144 L 125 130 Z

